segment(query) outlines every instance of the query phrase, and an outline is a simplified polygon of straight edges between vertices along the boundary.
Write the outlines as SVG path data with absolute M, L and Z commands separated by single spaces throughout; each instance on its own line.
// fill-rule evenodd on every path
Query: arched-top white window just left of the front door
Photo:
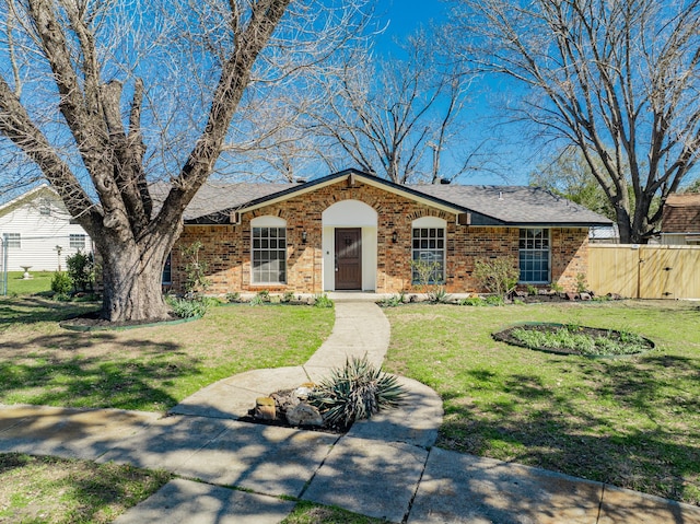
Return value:
M 287 282 L 287 222 L 278 217 L 250 221 L 253 283 Z

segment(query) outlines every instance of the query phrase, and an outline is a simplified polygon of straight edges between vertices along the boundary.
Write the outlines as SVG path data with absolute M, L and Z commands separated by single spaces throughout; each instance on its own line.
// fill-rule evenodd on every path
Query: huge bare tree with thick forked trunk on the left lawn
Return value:
M 167 315 L 165 257 L 236 109 L 326 58 L 358 3 L 0 2 L 3 154 L 34 163 L 93 238 L 105 318 Z

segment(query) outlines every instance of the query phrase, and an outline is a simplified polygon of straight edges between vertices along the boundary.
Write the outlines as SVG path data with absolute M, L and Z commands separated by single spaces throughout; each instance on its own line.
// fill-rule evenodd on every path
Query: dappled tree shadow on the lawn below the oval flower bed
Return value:
M 656 356 L 578 366 L 591 376 L 579 398 L 527 374 L 494 374 L 491 400 L 443 395 L 438 445 L 700 504 L 700 395 L 684 389 L 698 383 L 698 362 Z

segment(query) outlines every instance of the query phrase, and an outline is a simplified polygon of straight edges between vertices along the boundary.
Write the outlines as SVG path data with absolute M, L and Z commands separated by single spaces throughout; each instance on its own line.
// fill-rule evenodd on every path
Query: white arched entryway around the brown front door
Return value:
M 377 213 L 343 200 L 323 214 L 324 290 L 376 290 Z

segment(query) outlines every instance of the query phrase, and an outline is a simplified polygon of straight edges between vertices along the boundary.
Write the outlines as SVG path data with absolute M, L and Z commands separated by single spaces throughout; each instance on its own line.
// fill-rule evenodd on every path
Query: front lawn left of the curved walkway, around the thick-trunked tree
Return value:
M 236 373 L 305 362 L 334 323 L 330 308 L 232 305 L 174 326 L 92 333 L 58 326 L 95 307 L 0 300 L 0 403 L 163 411 Z

